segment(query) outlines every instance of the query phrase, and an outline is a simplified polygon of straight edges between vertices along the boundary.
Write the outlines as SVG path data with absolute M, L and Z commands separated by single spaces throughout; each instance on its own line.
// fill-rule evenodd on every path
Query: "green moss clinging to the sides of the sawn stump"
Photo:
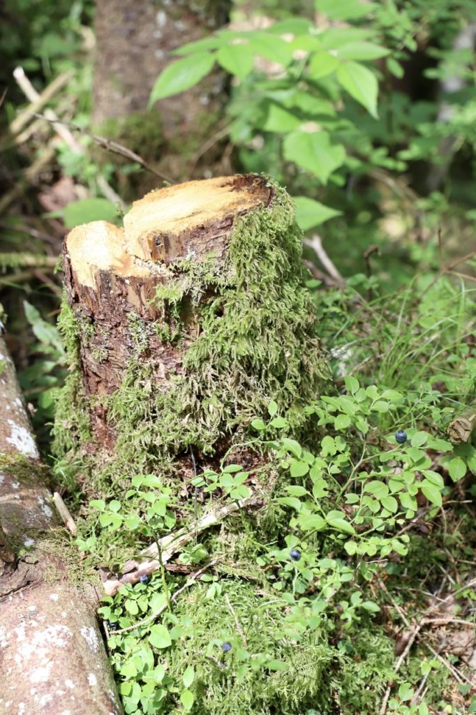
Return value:
M 273 184 L 270 207 L 239 217 L 224 265 L 210 254 L 202 262 L 179 260 L 157 288 L 162 320 L 146 322 L 131 310 L 136 345 L 121 388 L 106 398 L 117 434 L 110 473 L 170 470 L 191 446 L 213 453 L 224 436 L 241 439 L 252 418 L 267 415 L 275 400 L 294 435 L 302 435 L 302 407 L 319 394 L 327 365 L 317 340 L 317 317 L 301 263 L 302 233 L 284 189 Z M 89 438 L 86 404 L 77 370 L 78 337 L 93 327 L 64 304 L 59 329 L 72 373 L 56 418 L 56 453 Z M 154 356 L 144 359 L 152 334 L 187 344 L 183 374 L 157 388 Z M 62 406 L 61 406 L 62 405 Z M 74 405 L 74 406 L 73 406 Z M 74 425 L 71 426 L 71 415 Z M 68 424 L 69 438 L 61 430 Z M 59 426 L 58 426 L 59 425 Z

